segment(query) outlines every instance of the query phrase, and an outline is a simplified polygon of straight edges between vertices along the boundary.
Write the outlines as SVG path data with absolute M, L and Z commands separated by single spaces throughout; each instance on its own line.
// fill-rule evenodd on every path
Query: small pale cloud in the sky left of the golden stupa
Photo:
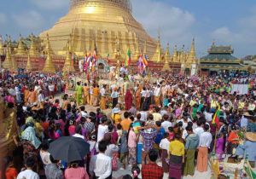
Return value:
M 13 14 L 12 18 L 18 26 L 23 29 L 27 29 L 28 31 L 38 31 L 45 25 L 44 17 L 34 10 L 20 14 Z

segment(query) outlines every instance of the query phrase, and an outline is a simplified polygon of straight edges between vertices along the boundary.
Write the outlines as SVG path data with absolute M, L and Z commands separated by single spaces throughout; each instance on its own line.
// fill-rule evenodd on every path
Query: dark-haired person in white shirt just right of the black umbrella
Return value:
M 90 159 L 90 175 L 97 179 L 111 179 L 112 178 L 112 162 L 111 158 L 105 154 L 107 150 L 107 142 L 100 141 L 98 145 L 100 153 L 94 155 Z

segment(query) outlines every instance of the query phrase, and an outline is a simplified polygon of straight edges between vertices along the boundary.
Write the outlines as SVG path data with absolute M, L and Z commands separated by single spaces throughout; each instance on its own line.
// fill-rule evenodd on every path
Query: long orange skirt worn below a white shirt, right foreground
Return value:
M 208 147 L 199 147 L 197 154 L 196 168 L 200 172 L 207 171 L 208 167 Z

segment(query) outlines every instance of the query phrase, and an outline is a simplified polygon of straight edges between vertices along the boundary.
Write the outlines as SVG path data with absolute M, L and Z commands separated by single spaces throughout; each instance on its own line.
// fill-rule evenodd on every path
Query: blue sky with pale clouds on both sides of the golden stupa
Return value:
M 207 54 L 214 39 L 232 45 L 237 57 L 256 54 L 255 0 L 132 0 L 133 15 L 148 33 L 171 48 L 190 47 L 195 38 L 197 55 Z M 38 34 L 67 14 L 69 0 L 3 0 L 0 34 L 18 38 Z M 150 9 L 150 10 L 148 10 Z M 171 50 L 172 50 L 171 49 Z

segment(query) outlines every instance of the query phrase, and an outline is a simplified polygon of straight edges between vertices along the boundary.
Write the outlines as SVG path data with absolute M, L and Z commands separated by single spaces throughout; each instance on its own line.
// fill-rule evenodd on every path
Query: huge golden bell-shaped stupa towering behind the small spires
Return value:
M 55 26 L 42 32 L 40 38 L 52 37 L 50 44 L 56 55 L 66 54 L 69 34 L 73 35 L 71 43 L 77 55 L 84 55 L 84 50 L 92 51 L 96 41 L 97 51 L 102 56 L 115 54 L 116 37 L 119 39 L 119 53 L 125 58 L 128 48 L 132 52 L 141 49 L 137 40 L 147 41 L 148 56 L 154 55 L 157 42 L 143 29 L 132 16 L 130 0 L 71 0 L 67 15 Z M 136 59 L 132 53 L 131 59 Z

